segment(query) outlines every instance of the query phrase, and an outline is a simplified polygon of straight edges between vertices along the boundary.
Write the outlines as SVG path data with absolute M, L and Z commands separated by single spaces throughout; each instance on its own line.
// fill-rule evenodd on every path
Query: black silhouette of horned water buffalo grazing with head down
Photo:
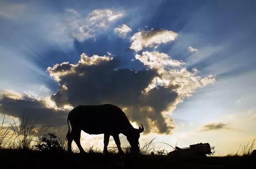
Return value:
M 71 132 L 69 127 L 71 125 Z M 71 152 L 71 143 L 74 140 L 80 152 L 84 152 L 80 144 L 81 130 L 88 134 L 104 134 L 103 153 L 108 153 L 107 146 L 110 135 L 116 142 L 118 152 L 123 153 L 119 134 L 127 137 L 131 152 L 139 152 L 139 137 L 144 127 L 133 128 L 125 113 L 117 106 L 103 105 L 79 105 L 69 112 L 68 115 L 68 151 Z

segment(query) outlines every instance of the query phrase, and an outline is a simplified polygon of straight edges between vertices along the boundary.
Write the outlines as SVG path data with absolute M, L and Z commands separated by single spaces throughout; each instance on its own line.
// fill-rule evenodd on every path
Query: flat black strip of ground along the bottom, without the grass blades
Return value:
M 103 155 L 101 153 L 53 153 L 0 149 L 0 168 L 241 168 L 256 169 L 256 157 L 204 157 L 175 159 L 160 155 Z

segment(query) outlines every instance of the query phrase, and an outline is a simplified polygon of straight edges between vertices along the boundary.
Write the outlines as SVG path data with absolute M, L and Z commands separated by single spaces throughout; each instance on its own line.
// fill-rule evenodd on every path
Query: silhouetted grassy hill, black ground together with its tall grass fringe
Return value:
M 49 126 L 37 128 L 36 123 L 0 124 L 0 167 L 18 169 L 86 169 L 86 168 L 127 168 L 127 169 L 197 169 L 197 168 L 240 168 L 255 169 L 256 156 L 251 156 L 255 140 L 241 147 L 236 153 L 219 157 L 183 157 L 167 155 L 164 150 L 155 151 L 153 140 L 140 148 L 140 154 L 131 154 L 124 148 L 119 155 L 116 148 L 104 155 L 100 150 L 89 148 L 87 153 L 66 152 L 66 141 L 61 141 L 55 133 L 45 134 Z M 46 128 L 46 129 L 45 129 Z M 40 131 L 41 132 L 40 134 Z M 152 153 L 154 150 L 155 153 Z M 78 151 L 75 151 L 78 152 Z M 151 155 L 151 153 L 153 155 Z

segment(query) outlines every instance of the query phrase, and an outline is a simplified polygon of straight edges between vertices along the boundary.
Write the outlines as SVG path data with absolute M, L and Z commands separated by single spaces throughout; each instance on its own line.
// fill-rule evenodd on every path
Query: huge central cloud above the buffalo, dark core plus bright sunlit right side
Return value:
M 197 76 L 181 60 L 165 53 L 137 54 L 146 69 L 119 69 L 120 61 L 110 56 L 81 54 L 77 64 L 63 62 L 47 71 L 59 83 L 51 96 L 56 105 L 98 105 L 111 103 L 121 107 L 131 122 L 142 123 L 145 132 L 170 133 L 170 118 L 176 105 L 199 87 L 215 78 Z

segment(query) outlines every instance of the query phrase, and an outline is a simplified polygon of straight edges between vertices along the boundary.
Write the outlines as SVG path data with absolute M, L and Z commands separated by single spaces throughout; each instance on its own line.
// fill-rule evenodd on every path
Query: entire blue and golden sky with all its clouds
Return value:
M 256 138 L 255 5 L 1 0 L 0 115 L 63 137 L 73 107 L 110 103 L 143 124 L 141 145 L 236 152 Z M 103 136 L 83 132 L 81 143 L 103 148 Z

